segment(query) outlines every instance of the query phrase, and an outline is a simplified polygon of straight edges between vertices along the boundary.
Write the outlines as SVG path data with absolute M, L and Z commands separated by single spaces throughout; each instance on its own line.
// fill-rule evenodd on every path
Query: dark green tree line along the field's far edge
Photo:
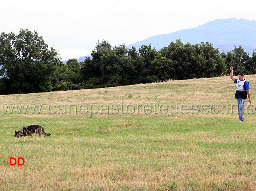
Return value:
M 98 41 L 83 62 L 60 61 L 36 31 L 0 35 L 0 94 L 38 93 L 153 83 L 169 79 L 216 77 L 233 66 L 234 75 L 256 74 L 252 57 L 242 45 L 224 53 L 206 42 L 182 43 L 180 39 L 156 50 L 149 45 L 127 48 Z

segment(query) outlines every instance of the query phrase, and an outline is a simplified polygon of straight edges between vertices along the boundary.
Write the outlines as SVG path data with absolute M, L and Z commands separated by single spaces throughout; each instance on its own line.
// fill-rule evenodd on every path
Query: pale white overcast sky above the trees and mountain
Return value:
M 36 30 L 62 60 L 90 55 L 98 39 L 111 45 L 194 28 L 219 18 L 256 20 L 251 0 L 1 1 L 0 32 Z

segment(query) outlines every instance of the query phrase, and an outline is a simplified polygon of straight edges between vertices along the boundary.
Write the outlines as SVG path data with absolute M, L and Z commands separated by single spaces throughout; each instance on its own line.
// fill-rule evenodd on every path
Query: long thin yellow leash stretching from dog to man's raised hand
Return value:
M 228 69 L 229 69 L 229 68 L 228 68 Z M 228 69 L 227 69 L 226 71 L 228 71 Z M 216 80 L 216 79 L 219 78 L 221 75 L 223 75 L 224 73 L 226 73 L 226 71 L 224 71 L 224 72 L 223 72 L 222 74 L 220 74 L 218 77 L 214 78 L 212 81 L 210 81 L 210 83 L 212 83 L 214 80 Z M 200 89 L 198 89 L 198 90 L 195 91 L 194 93 L 190 94 L 189 96 L 186 96 L 184 99 L 178 101 L 178 103 L 180 103 L 180 102 L 184 101 L 186 98 L 188 98 L 188 97 L 194 95 L 194 94 L 197 93 L 198 91 L 200 91 L 200 90 L 202 90 L 203 88 L 205 88 L 206 86 L 208 86 L 210 83 L 204 85 L 203 87 L 201 87 Z M 121 125 L 121 126 L 118 126 L 118 127 L 113 127 L 113 128 L 108 128 L 108 129 L 101 129 L 101 130 L 83 131 L 83 132 L 72 132 L 72 133 L 52 134 L 51 136 L 54 136 L 54 135 L 76 134 L 76 133 L 100 132 L 100 131 L 106 131 L 106 130 L 117 129 L 117 128 L 129 126 L 129 125 L 132 125 L 132 124 L 136 124 L 136 123 L 138 123 L 138 122 L 142 122 L 142 121 L 147 120 L 147 119 L 149 119 L 149 118 L 152 118 L 152 117 L 156 116 L 157 114 L 160 114 L 161 112 L 164 112 L 164 111 L 168 110 L 169 108 L 170 108 L 170 106 L 169 106 L 168 108 L 166 108 L 166 109 L 164 109 L 164 110 L 162 110 L 162 111 L 160 111 L 160 112 L 158 112 L 158 113 L 152 115 L 152 116 L 149 116 L 149 117 L 144 118 L 144 119 L 142 119 L 142 120 L 138 120 L 138 121 L 136 121 L 136 122 L 124 124 L 124 125 Z

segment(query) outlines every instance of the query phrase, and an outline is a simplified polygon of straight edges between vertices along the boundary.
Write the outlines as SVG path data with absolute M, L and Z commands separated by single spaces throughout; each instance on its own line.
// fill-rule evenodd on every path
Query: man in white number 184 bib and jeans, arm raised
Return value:
M 246 102 L 247 95 L 249 98 L 249 104 L 252 103 L 249 82 L 246 79 L 244 79 L 243 73 L 238 74 L 238 79 L 234 78 L 233 67 L 230 67 L 230 78 L 234 81 L 234 83 L 236 83 L 235 98 L 236 98 L 236 103 L 238 107 L 238 116 L 239 116 L 238 122 L 243 122 L 244 121 L 244 103 Z

